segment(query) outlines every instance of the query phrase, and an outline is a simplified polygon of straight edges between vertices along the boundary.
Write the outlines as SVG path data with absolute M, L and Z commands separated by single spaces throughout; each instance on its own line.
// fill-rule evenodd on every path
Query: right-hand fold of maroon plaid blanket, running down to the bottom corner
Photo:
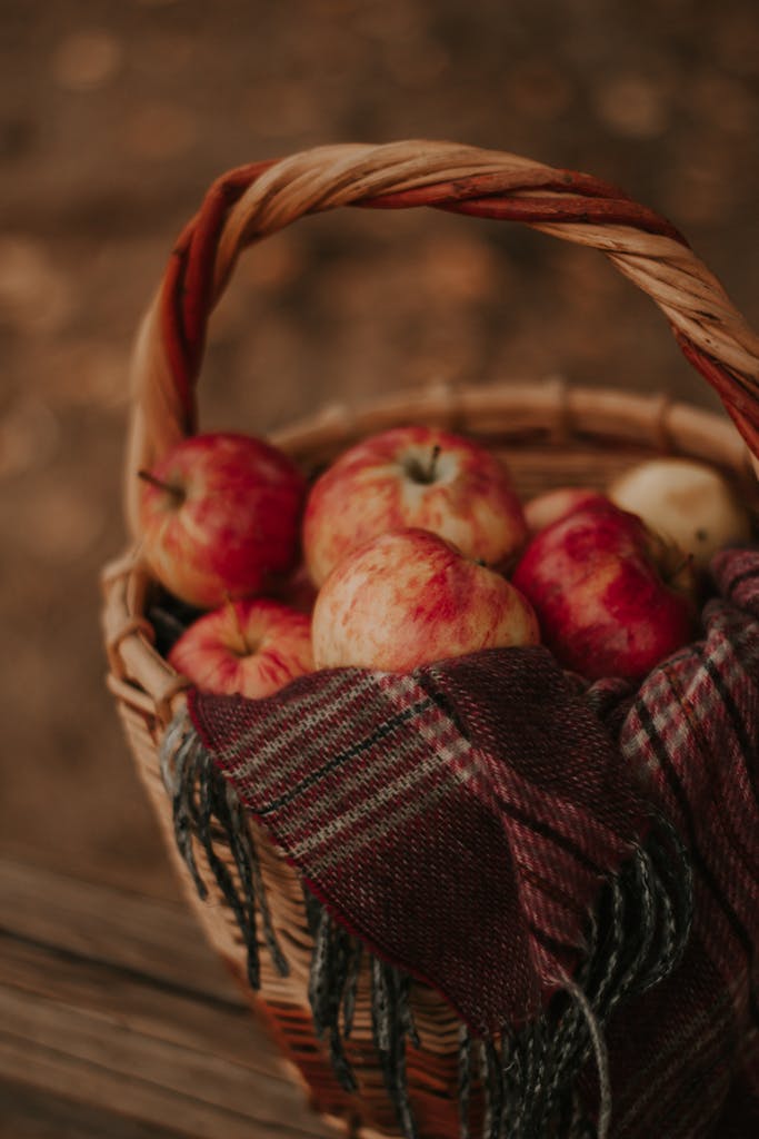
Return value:
M 682 966 L 609 1025 L 619 1139 L 759 1133 L 759 555 L 712 568 L 704 638 L 624 702 L 622 754 L 690 847 L 695 908 Z

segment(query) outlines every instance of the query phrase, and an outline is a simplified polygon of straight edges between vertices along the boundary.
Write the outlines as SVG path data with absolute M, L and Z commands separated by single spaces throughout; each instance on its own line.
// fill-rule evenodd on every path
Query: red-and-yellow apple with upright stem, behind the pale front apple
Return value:
M 350 448 L 312 486 L 303 526 L 312 579 L 322 585 L 350 550 L 409 526 L 496 567 L 527 536 L 509 472 L 487 449 L 432 427 L 395 427 Z

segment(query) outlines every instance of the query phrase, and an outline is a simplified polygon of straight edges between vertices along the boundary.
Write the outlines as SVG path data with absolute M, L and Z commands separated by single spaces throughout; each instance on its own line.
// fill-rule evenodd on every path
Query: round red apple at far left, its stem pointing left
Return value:
M 183 440 L 143 480 L 143 552 L 158 581 L 201 609 L 262 593 L 292 568 L 305 478 L 281 451 L 250 435 Z

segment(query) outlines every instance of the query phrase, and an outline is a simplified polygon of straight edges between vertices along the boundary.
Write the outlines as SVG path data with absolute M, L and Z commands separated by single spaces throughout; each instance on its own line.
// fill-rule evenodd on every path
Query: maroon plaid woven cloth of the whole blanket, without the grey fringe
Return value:
M 759 555 L 721 555 L 715 574 L 703 639 L 638 691 L 583 690 L 538 647 L 190 702 L 217 768 L 313 893 L 477 1033 L 546 1007 L 650 808 L 674 823 L 694 926 L 676 970 L 607 1025 L 620 1139 L 719 1134 L 723 1111 L 739 1134 L 759 1095 Z M 591 1099 L 593 1080 L 588 1067 Z

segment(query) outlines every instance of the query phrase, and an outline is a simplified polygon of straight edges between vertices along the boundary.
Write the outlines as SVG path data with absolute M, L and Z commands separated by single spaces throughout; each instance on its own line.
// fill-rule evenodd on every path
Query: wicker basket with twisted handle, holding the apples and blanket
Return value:
M 348 1041 L 357 1095 L 339 1087 L 315 1038 L 307 999 L 311 943 L 291 867 L 264 836 L 254 835 L 273 924 L 290 964 L 290 975 L 282 978 L 264 951 L 262 989 L 254 995 L 244 980 L 246 951 L 233 916 L 218 898 L 198 900 L 176 854 L 158 748 L 183 700 L 185 682 L 154 648 L 146 616 L 154 587 L 140 559 L 135 508 L 135 472 L 196 429 L 193 386 L 206 322 L 239 252 L 303 214 L 339 205 L 430 205 L 519 220 L 602 249 L 663 311 L 680 349 L 717 390 L 733 423 L 671 403 L 666 395 L 567 388 L 559 383 L 435 387 L 383 398 L 362 409 L 330 408 L 272 436 L 306 473 L 371 432 L 419 423 L 467 433 L 506 453 L 526 497 L 566 483 L 602 487 L 635 459 L 675 453 L 723 469 L 756 508 L 751 452 L 759 452 L 759 339 L 679 235 L 616 188 L 513 155 L 449 144 L 324 147 L 234 170 L 211 188 L 173 251 L 134 353 L 125 482 L 134 543 L 102 575 L 108 687 L 190 904 L 267 1023 L 294 1077 L 307 1089 L 315 1109 L 344 1133 L 396 1136 L 395 1113 L 372 1043 L 368 978 L 360 984 Z M 420 1134 L 446 1139 L 459 1134 L 459 1022 L 422 985 L 413 990 L 413 1005 L 420 1047 L 410 1049 L 407 1058 L 411 1101 Z

